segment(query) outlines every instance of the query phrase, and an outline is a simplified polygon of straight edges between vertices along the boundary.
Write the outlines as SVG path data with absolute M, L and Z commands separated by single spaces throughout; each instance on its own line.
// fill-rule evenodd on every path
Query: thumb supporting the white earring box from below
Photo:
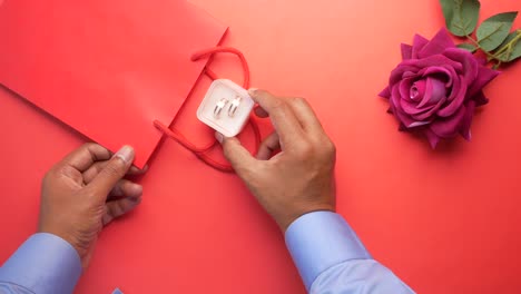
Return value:
M 255 164 L 255 158 L 244 148 L 240 141 L 235 138 L 227 138 L 220 133 L 215 133 L 215 138 L 223 146 L 226 159 L 232 164 L 235 171 L 240 176 L 245 170 L 250 169 Z

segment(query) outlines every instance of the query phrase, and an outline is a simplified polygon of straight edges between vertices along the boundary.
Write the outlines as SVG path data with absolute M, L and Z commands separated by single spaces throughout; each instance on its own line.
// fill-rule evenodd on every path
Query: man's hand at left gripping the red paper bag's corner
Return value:
M 124 179 L 127 174 L 140 173 L 130 167 L 132 160 L 134 149 L 129 146 L 112 156 L 97 144 L 86 144 L 43 178 L 38 231 L 70 243 L 83 268 L 104 225 L 141 200 L 142 187 Z

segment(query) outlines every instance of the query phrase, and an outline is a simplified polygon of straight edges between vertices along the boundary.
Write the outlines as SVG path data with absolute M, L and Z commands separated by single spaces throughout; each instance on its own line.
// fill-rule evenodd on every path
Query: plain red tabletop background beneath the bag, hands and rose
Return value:
M 443 26 L 438 1 L 194 2 L 230 26 L 224 43 L 245 52 L 254 87 L 315 107 L 338 148 L 338 210 L 379 261 L 419 293 L 519 293 L 521 62 L 485 89 L 472 143 L 431 150 L 396 130 L 376 94 L 400 42 Z M 521 3 L 483 0 L 481 17 L 507 10 Z M 212 68 L 242 80 L 234 57 Z M 195 118 L 205 85 L 176 121 L 200 143 L 212 134 Z M 41 176 L 83 139 L 20 99 L 1 94 L 0 106 L 4 261 L 35 232 Z M 282 235 L 235 176 L 165 140 L 141 184 L 142 204 L 104 231 L 78 293 L 304 293 Z

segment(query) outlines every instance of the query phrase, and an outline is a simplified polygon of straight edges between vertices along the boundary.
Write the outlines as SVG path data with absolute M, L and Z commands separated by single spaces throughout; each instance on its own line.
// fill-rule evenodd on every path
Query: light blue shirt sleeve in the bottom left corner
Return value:
M 0 267 L 1 293 L 72 293 L 81 261 L 65 239 L 38 233 L 27 239 Z

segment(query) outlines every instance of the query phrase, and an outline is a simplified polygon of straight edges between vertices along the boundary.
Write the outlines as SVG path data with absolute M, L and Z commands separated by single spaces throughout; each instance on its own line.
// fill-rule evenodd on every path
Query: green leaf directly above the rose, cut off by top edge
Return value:
M 455 36 L 471 35 L 478 24 L 480 1 L 440 0 L 446 28 Z

